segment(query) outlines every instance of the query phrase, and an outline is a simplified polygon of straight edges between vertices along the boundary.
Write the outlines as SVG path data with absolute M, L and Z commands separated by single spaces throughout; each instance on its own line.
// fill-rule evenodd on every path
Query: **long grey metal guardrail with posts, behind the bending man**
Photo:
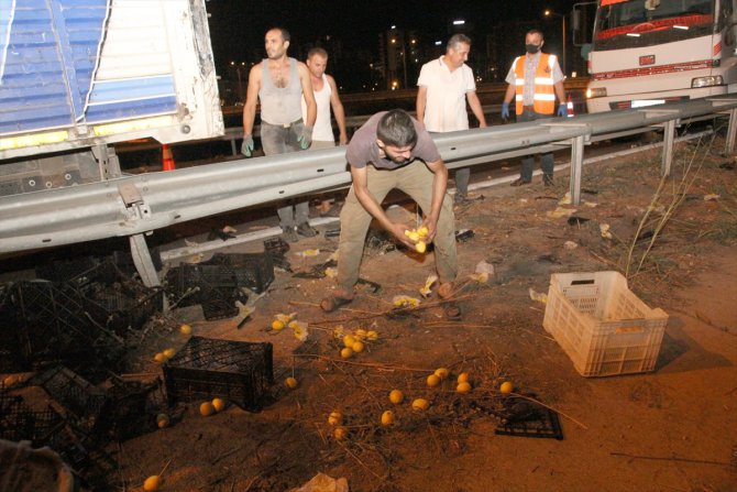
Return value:
M 632 129 L 664 130 L 662 172 L 670 173 L 673 134 L 681 120 L 729 116 L 733 152 L 737 94 L 641 109 L 551 118 L 433 135 L 448 167 L 571 147 L 571 197 L 581 194 L 587 141 Z M 143 234 L 187 220 L 350 184 L 344 149 L 230 161 L 165 173 L 0 197 L 0 253 L 129 237 L 147 285 L 158 280 Z

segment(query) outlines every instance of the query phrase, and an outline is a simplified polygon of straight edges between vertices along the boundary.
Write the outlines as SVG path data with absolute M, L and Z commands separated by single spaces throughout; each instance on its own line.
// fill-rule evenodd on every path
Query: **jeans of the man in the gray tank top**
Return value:
M 302 132 L 305 123 L 297 120 L 285 128 L 283 124 L 270 124 L 261 122 L 261 145 L 265 155 L 286 154 L 288 152 L 301 151 L 297 139 Z M 307 222 L 309 217 L 309 201 L 299 201 L 276 209 L 282 228 L 294 228 Z

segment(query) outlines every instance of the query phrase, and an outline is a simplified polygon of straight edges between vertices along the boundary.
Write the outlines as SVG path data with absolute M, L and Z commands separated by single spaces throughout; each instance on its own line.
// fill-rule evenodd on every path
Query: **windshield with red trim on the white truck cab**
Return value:
M 594 51 L 652 46 L 710 35 L 715 0 L 602 0 Z

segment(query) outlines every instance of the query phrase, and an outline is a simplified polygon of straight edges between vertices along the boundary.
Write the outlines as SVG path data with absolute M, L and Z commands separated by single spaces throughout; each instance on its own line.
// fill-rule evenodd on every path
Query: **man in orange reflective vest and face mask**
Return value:
M 568 113 L 565 107 L 565 91 L 563 89 L 563 73 L 558 65 L 558 57 L 540 52 L 544 44 L 542 33 L 531 30 L 525 36 L 526 55 L 518 56 L 512 64 L 506 81 L 509 84 L 504 95 L 502 118 L 509 118 L 509 102 L 515 99 L 517 122 L 532 121 L 540 118 L 551 118 L 556 114 L 556 96 L 558 96 L 559 117 Z M 546 186 L 552 185 L 553 155 L 543 154 L 542 182 Z M 512 186 L 527 185 L 532 181 L 535 156 L 522 160 L 522 171 L 519 178 Z

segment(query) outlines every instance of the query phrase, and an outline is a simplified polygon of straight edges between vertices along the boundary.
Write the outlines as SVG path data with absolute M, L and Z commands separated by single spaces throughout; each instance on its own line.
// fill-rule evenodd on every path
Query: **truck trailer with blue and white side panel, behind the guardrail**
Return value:
M 205 0 L 0 0 L 0 196 L 118 177 L 116 142 L 222 133 Z

